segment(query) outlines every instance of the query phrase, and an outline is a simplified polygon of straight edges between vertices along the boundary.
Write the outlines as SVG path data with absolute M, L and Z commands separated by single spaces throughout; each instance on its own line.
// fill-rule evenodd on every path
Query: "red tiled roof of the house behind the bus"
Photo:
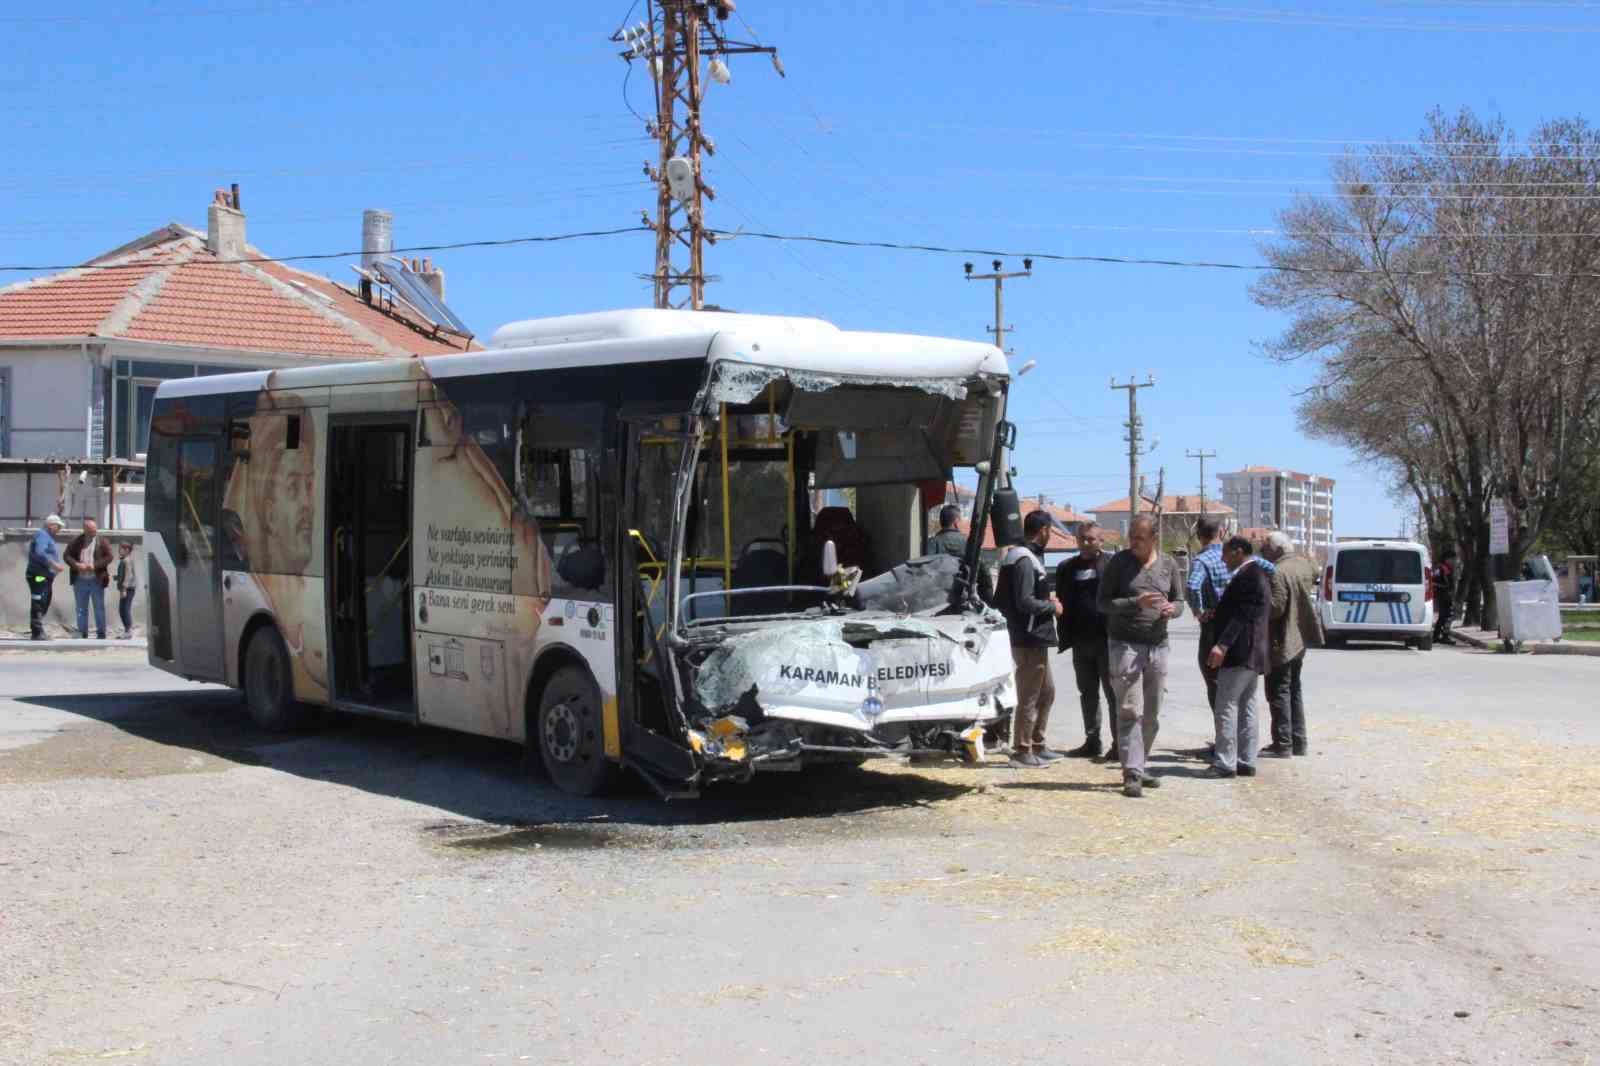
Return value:
M 88 266 L 98 269 L 0 288 L 0 338 L 102 336 L 336 359 L 477 347 L 435 336 L 405 307 L 368 306 L 282 262 L 218 262 L 200 234 L 178 224 Z

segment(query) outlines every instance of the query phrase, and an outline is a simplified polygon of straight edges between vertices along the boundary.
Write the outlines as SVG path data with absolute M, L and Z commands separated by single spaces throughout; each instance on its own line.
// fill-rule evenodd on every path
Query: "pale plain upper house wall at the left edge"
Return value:
M 82 458 L 90 405 L 90 368 L 83 352 L 75 347 L 0 347 L 0 367 L 11 371 L 11 447 L 6 455 Z

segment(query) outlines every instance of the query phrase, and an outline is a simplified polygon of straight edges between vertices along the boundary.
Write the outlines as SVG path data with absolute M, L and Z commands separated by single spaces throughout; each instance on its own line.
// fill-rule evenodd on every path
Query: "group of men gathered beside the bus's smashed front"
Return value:
M 1306 754 L 1301 667 L 1306 648 L 1322 642 L 1317 565 L 1283 533 L 1272 533 L 1258 555 L 1250 539 L 1224 543 L 1218 523 L 1200 519 L 1195 535 L 1203 547 L 1186 573 L 1176 557 L 1160 551 L 1154 517 L 1136 515 L 1128 547 L 1115 555 L 1106 554 L 1099 527 L 1088 523 L 1077 535 L 1078 554 L 1051 575 L 1043 551 L 1053 525 L 1045 511 L 1022 520 L 1022 543 L 1005 551 L 995 587 L 1016 661 L 1011 765 L 1104 759 L 1122 765 L 1125 795 L 1158 787 L 1149 755 L 1166 693 L 1166 629 L 1186 607 L 1200 619 L 1198 664 L 1216 727 L 1208 775 L 1254 776 L 1258 755 Z M 1056 695 L 1051 648 L 1072 655 L 1083 712 L 1083 744 L 1072 751 L 1054 751 L 1045 741 Z M 1258 749 L 1262 679 L 1272 741 Z M 1109 751 L 1102 751 L 1101 696 Z

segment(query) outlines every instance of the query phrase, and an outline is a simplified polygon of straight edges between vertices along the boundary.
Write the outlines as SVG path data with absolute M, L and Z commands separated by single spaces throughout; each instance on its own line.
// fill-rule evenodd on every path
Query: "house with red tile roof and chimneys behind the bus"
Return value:
M 363 238 L 366 229 L 363 218 Z M 80 267 L 0 288 L 0 528 L 37 520 L 59 498 L 54 477 L 35 472 L 24 488 L 24 466 L 136 466 L 162 381 L 478 347 L 370 274 L 344 285 L 269 258 L 246 240 L 235 187 L 216 194 L 205 232 L 170 222 Z M 410 266 L 443 303 L 443 272 Z M 85 485 L 69 523 L 107 517 L 106 493 Z M 131 527 L 138 514 L 112 522 Z

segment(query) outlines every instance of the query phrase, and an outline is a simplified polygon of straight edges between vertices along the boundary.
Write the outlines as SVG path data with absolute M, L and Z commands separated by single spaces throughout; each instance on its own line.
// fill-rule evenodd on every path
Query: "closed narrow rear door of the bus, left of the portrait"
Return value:
M 178 661 L 190 677 L 222 677 L 222 595 L 218 586 L 218 451 L 210 437 L 178 443 Z

